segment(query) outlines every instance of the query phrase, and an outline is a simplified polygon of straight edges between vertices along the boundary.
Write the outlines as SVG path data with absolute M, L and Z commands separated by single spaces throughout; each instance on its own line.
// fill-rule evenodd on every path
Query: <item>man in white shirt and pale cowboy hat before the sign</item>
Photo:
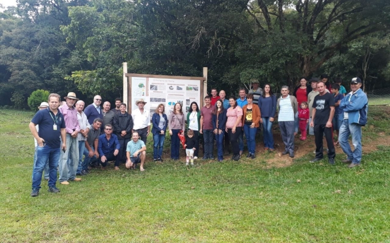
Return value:
M 131 116 L 133 118 L 133 130 L 138 132 L 141 140 L 146 144 L 146 138 L 150 132 L 150 115 L 149 111 L 144 109 L 146 102 L 143 99 L 136 101 L 137 109 L 133 110 Z

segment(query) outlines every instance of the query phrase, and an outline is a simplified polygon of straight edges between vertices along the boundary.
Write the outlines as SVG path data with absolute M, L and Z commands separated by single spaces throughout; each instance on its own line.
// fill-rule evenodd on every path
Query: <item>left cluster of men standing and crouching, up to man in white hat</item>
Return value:
M 64 99 L 61 104 L 58 94 L 50 94 L 48 103 L 39 105 L 29 124 L 36 140 L 31 196 L 39 194 L 43 171 L 48 191 L 56 193 L 57 170 L 62 185 L 81 181 L 77 175 L 88 174 L 92 167 L 104 170 L 109 161 L 115 161 L 115 170 L 119 170 L 120 163 L 128 169 L 135 169 L 139 163 L 140 170 L 144 170 L 150 132 L 144 100 L 136 102 L 137 109 L 130 115 L 120 98 L 112 110 L 109 102 L 100 107 L 100 95 L 85 109 L 85 103 L 74 92 Z

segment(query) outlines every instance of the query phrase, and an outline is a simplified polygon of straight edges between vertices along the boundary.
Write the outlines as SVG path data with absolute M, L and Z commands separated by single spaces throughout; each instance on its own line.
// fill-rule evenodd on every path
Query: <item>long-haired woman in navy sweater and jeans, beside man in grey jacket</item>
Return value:
M 276 96 L 272 93 L 269 84 L 264 85 L 263 95 L 260 96 L 258 105 L 261 110 L 260 123 L 263 124 L 264 150 L 273 151 L 272 123 L 276 112 Z

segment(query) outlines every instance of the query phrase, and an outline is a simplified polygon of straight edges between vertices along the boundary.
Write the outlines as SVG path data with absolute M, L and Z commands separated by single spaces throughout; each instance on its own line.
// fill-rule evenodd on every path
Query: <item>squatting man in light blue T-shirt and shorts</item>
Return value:
M 137 131 L 133 132 L 133 140 L 127 143 L 126 148 L 126 168 L 127 169 L 135 169 L 136 164 L 141 163 L 139 169 L 144 171 L 143 164 L 146 159 L 146 145 L 145 143 L 139 139 L 139 134 Z

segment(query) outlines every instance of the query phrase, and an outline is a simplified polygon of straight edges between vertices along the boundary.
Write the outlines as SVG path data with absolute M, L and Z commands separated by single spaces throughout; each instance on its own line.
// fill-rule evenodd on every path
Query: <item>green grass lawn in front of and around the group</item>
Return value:
M 369 112 L 363 143 L 389 136 L 389 110 Z M 32 198 L 32 116 L 0 110 L 1 242 L 390 242 L 386 142 L 352 169 L 342 154 L 335 166 L 308 154 L 271 169 L 261 156 L 194 168 L 149 160 L 145 172 L 93 170 L 58 194 L 42 180 Z

